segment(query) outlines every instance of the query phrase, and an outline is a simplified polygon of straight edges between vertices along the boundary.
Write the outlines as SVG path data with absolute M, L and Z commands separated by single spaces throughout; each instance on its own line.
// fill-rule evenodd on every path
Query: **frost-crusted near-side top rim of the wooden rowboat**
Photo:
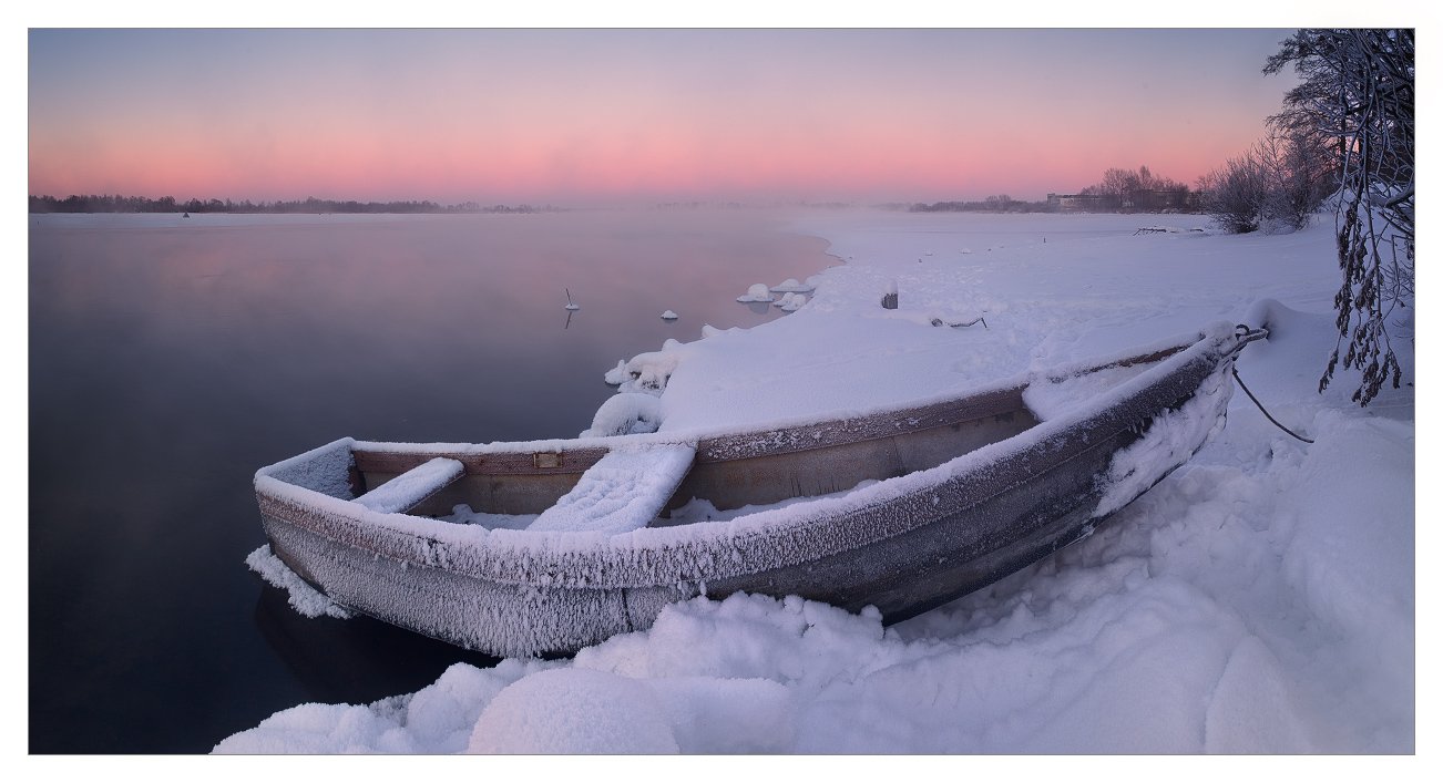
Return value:
M 1157 365 L 1097 399 L 1095 410 L 1118 405 L 1166 376 L 1231 343 L 1231 327 L 1211 335 L 1188 350 Z M 916 472 L 860 489 L 844 497 L 818 499 L 772 509 L 730 522 L 644 528 L 606 535 L 597 532 L 537 534 L 486 531 L 447 525 L 405 515 L 359 512 L 354 503 L 317 497 L 299 487 L 263 487 L 276 502 L 313 518 L 322 535 L 400 561 L 447 568 L 506 584 L 544 587 L 649 587 L 700 584 L 742 574 L 762 572 L 898 535 L 926 523 L 939 512 L 939 487 L 965 495 L 968 483 L 1007 480 L 1007 466 L 1026 453 L 1055 450 L 1053 441 L 1084 420 L 1081 412 L 1059 417 L 1003 443 L 960 456 L 931 470 Z M 1016 467 L 1012 467 L 1016 470 Z M 263 497 L 263 506 L 267 499 Z M 885 513 L 880 513 L 885 512 Z M 278 516 L 287 516 L 281 510 Z

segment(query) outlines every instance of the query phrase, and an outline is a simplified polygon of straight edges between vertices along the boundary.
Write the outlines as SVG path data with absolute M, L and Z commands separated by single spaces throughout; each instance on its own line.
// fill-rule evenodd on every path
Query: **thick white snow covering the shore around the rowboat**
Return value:
M 1411 753 L 1413 389 L 1367 410 L 1348 402 L 1355 376 L 1316 392 L 1335 340 L 1330 221 L 1283 236 L 1202 225 L 810 215 L 794 229 L 847 264 L 805 306 L 668 340 L 635 369 L 667 382 L 662 428 L 710 428 L 1266 323 L 1238 369 L 1316 443 L 1235 394 L 1222 434 L 1097 535 L 898 626 L 697 598 L 570 660 L 456 665 L 372 705 L 299 705 L 216 751 Z M 882 309 L 893 286 L 899 307 Z M 1411 379 L 1411 342 L 1395 348 Z

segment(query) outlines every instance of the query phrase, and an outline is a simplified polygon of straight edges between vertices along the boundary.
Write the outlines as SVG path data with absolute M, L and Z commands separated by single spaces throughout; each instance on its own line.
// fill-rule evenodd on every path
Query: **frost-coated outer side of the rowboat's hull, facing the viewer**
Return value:
M 670 603 L 737 591 L 848 610 L 873 606 L 898 621 L 1087 536 L 1183 464 L 1221 427 L 1235 350 L 1227 335 L 1205 336 L 1095 410 L 1027 427 L 856 496 L 730 522 L 615 536 L 528 535 L 369 513 L 348 499 L 355 493 L 351 441 L 297 463 L 333 463 L 306 473 L 329 479 L 307 477 L 302 483 L 313 486 L 306 487 L 281 480 L 297 480 L 294 470 L 263 470 L 257 496 L 271 549 L 332 600 L 492 655 L 573 653 L 649 627 Z M 978 411 L 967 421 L 1016 424 L 1010 412 Z M 970 424 L 918 431 L 961 425 Z M 707 451 L 697 453 L 700 469 Z M 763 456 L 765 448 L 739 459 Z M 338 470 L 349 472 L 349 489 Z M 683 483 L 677 495 L 687 492 Z

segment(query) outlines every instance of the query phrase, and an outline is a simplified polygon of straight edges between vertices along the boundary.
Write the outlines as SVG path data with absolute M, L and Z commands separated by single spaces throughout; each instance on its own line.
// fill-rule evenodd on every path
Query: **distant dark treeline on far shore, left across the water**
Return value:
M 238 212 L 238 213 L 317 213 L 317 212 L 346 212 L 346 213 L 444 213 L 444 212 L 556 212 L 557 208 L 547 206 L 481 206 L 476 202 L 465 202 L 442 206 L 436 202 L 356 202 L 330 200 L 309 198 L 293 202 L 232 202 L 231 199 L 190 199 L 176 200 L 172 196 L 147 199 L 144 196 L 30 196 L 30 212 Z

